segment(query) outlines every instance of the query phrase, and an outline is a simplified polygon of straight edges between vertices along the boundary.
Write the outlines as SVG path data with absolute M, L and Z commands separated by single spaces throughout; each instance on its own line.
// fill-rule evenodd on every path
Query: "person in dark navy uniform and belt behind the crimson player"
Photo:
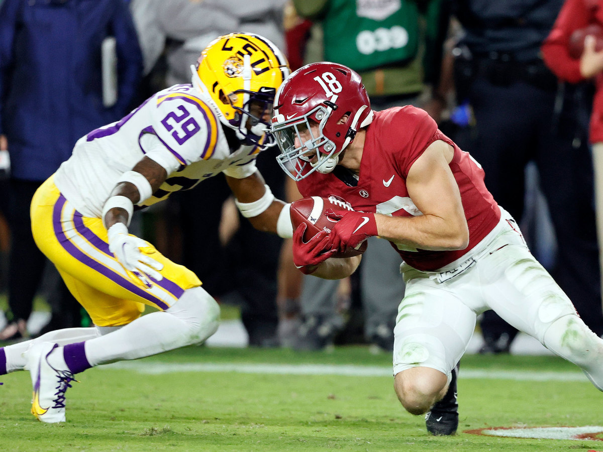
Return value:
M 524 213 L 526 165 L 533 161 L 557 236 L 552 275 L 589 328 L 603 333 L 592 202 L 592 163 L 576 87 L 558 86 L 540 46 L 563 0 L 457 0 L 463 26 L 455 61 L 456 91 L 475 115 L 467 146 L 485 171 L 490 192 L 518 220 Z M 508 352 L 517 330 L 484 313 L 483 353 Z

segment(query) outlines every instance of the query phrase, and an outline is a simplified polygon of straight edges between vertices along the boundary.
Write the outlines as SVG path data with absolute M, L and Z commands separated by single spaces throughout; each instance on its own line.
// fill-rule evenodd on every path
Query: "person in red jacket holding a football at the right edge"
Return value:
M 603 243 L 602 38 L 603 4 L 600 1 L 567 0 L 561 8 L 551 34 L 542 46 L 546 65 L 561 80 L 575 84 L 595 82 L 596 92 L 590 115 L 589 138 L 592 143 L 595 169 L 595 206 L 599 243 Z M 574 48 L 570 48 L 570 40 Z M 603 268 L 603 253 L 600 250 L 599 266 Z

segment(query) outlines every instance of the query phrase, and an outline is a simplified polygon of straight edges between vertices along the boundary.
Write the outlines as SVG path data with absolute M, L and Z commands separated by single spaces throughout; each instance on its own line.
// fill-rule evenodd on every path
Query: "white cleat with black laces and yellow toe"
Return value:
M 49 424 L 65 422 L 65 391 L 71 388 L 71 381 L 77 381 L 66 366 L 55 367 L 48 362 L 57 347 L 58 344 L 52 342 L 41 342 L 27 351 L 27 368 L 33 386 L 31 414 Z

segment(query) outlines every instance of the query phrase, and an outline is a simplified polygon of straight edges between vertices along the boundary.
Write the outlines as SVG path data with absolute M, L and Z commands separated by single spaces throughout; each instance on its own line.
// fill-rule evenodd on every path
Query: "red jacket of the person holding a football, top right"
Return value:
M 542 53 L 546 65 L 561 80 L 578 83 L 584 80 L 580 74 L 580 60 L 570 57 L 568 42 L 575 30 L 587 25 L 603 27 L 603 0 L 566 0 Z M 603 142 L 603 74 L 595 77 L 596 93 L 590 115 L 590 142 Z

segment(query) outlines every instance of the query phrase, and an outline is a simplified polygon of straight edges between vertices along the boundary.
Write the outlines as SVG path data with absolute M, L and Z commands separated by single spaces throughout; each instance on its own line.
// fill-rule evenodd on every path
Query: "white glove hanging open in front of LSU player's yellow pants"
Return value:
M 163 275 L 159 273 L 163 269 L 163 264 L 140 253 L 139 248 L 145 248 L 148 243 L 139 237 L 128 235 L 128 227 L 125 224 L 115 223 L 107 230 L 107 236 L 109 251 L 115 254 L 116 259 L 126 270 L 131 271 L 149 287 L 151 282 L 147 279 L 147 275 L 156 281 L 163 279 Z

